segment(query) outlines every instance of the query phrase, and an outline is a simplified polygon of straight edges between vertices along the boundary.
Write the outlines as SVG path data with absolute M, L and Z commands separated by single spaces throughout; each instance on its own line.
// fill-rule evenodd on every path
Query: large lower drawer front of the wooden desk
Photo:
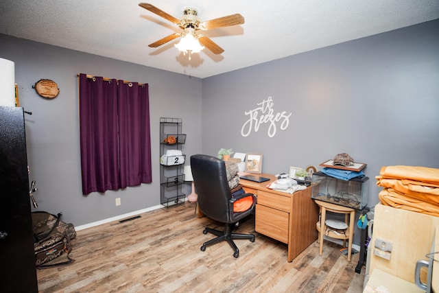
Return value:
M 257 204 L 254 230 L 288 244 L 288 217 L 289 213 L 285 211 Z

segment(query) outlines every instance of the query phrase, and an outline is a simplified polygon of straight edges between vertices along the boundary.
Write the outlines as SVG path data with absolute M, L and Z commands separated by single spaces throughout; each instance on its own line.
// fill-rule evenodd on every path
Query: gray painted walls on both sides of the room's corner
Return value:
M 159 204 L 159 117 L 182 117 L 188 157 L 219 148 L 258 152 L 267 173 L 348 152 L 368 164 L 373 206 L 381 166 L 439 167 L 438 52 L 436 20 L 200 80 L 0 34 L 0 57 L 15 62 L 21 106 L 34 113 L 26 117 L 27 152 L 40 209 L 63 211 L 77 226 Z M 82 196 L 78 73 L 150 84 L 152 184 Z M 32 89 L 41 78 L 58 83 L 56 99 Z M 262 124 L 243 137 L 244 112 L 268 97 L 274 113 L 292 113 L 289 126 L 270 138 Z

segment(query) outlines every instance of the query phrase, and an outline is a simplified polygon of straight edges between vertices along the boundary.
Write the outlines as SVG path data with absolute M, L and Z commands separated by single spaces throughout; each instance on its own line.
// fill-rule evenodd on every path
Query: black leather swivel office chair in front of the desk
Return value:
M 239 249 L 233 239 L 250 239 L 250 242 L 254 242 L 254 235 L 232 233 L 232 228 L 235 223 L 254 211 L 257 197 L 254 194 L 241 194 L 241 196 L 232 198 L 227 182 L 226 165 L 224 161 L 217 159 L 215 156 L 204 154 L 191 156 L 191 169 L 198 193 L 199 209 L 207 217 L 225 225 L 224 231 L 204 228 L 204 234 L 209 232 L 217 235 L 217 237 L 204 242 L 200 249 L 204 251 L 206 246 L 225 240 L 235 250 L 233 256 L 239 257 Z M 246 211 L 235 213 L 233 211 L 233 202 L 246 196 L 252 196 L 252 206 Z

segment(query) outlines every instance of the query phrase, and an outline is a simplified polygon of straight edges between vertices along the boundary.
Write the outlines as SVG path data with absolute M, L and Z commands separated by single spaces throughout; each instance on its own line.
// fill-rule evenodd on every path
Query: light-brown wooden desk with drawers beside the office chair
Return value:
M 294 194 L 268 189 L 266 186 L 277 178 L 261 174 L 270 181 L 256 183 L 241 179 L 246 192 L 256 194 L 255 231 L 288 245 L 288 261 L 292 261 L 311 243 L 318 233 L 318 207 L 311 200 L 311 187 Z

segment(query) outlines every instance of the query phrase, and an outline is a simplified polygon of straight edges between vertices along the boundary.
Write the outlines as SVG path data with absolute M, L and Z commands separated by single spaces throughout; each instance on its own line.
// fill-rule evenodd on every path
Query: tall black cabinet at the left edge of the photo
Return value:
M 0 291 L 38 292 L 23 108 L 0 106 Z

